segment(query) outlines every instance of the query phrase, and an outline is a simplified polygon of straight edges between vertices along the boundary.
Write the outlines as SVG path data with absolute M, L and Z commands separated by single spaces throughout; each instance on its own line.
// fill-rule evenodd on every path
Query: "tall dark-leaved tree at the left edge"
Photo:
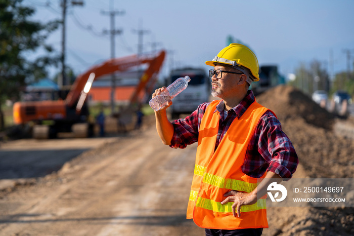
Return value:
M 0 0 L 0 120 L 3 117 L 1 105 L 6 99 L 18 99 L 21 87 L 47 76 L 46 68 L 59 63 L 60 58 L 46 45 L 47 37 L 60 22 L 31 20 L 35 9 L 22 2 Z M 37 50 L 43 50 L 45 55 L 30 61 L 29 53 Z M 4 122 L 0 121 L 0 130 L 3 128 Z

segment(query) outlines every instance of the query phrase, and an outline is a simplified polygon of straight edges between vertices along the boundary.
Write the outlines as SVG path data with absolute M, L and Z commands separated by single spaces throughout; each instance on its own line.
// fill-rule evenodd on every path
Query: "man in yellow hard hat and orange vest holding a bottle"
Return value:
M 292 177 L 297 154 L 276 115 L 249 90 L 259 80 L 258 61 L 249 48 L 230 44 L 205 63 L 214 67 L 211 94 L 221 100 L 200 104 L 172 123 L 169 102 L 155 111 L 157 132 L 172 148 L 198 142 L 187 218 L 206 235 L 260 235 L 268 227 L 260 196 L 272 182 Z

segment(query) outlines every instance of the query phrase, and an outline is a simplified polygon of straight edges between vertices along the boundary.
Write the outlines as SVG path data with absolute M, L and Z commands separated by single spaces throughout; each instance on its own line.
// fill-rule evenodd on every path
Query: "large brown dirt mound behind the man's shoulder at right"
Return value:
M 308 96 L 289 86 L 278 86 L 257 96 L 257 102 L 273 110 L 289 136 L 303 167 L 312 178 L 352 178 L 354 173 L 354 139 L 335 132 L 334 115 Z M 273 209 L 274 210 L 274 209 Z M 289 212 L 291 214 L 289 214 Z M 352 208 L 276 209 L 278 220 L 264 235 L 353 235 Z M 279 223 L 287 219 L 283 223 Z M 283 220 L 284 221 L 284 220 Z

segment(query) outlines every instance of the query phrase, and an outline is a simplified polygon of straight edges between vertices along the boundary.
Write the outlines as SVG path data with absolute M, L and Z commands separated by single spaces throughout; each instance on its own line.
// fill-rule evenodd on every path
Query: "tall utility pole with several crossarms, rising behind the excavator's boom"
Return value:
M 102 11 L 101 13 L 104 15 L 109 15 L 110 17 L 110 36 L 111 36 L 111 59 L 115 58 L 115 35 L 116 34 L 120 34 L 122 33 L 122 29 L 115 29 L 115 16 L 119 16 L 119 15 L 123 15 L 125 13 L 125 11 L 114 11 L 113 10 L 113 0 L 111 0 L 110 2 L 111 6 L 110 6 L 110 11 L 109 12 L 105 12 Z M 107 30 L 104 30 L 104 33 L 107 33 Z M 113 72 L 111 74 L 111 112 L 112 114 L 114 114 L 114 110 L 115 110 L 115 90 L 116 90 L 116 86 L 115 86 L 115 73 Z

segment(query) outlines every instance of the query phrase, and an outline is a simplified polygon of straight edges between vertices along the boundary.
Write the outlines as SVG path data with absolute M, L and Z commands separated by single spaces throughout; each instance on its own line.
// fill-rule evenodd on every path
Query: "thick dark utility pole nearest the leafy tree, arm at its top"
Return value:
M 72 6 L 83 6 L 82 1 L 71 1 Z M 62 64 L 62 69 L 61 69 L 61 78 L 58 79 L 58 85 L 59 87 L 63 87 L 65 85 L 68 85 L 68 82 L 66 81 L 66 74 L 65 74 L 65 38 L 66 38 L 66 10 L 67 10 L 67 0 L 62 1 L 62 53 L 61 53 L 61 64 Z

